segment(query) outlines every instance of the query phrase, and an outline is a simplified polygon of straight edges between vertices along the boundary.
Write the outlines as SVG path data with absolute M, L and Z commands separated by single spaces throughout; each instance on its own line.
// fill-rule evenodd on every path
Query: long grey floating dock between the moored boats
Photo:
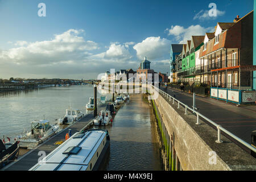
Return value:
M 98 110 L 105 109 L 106 105 L 98 105 Z M 58 147 L 56 142 L 64 141 L 65 135 L 68 133 L 69 129 L 72 130 L 72 135 L 79 132 L 80 130 L 86 129 L 89 122 L 94 119 L 94 114 L 86 114 L 85 117 L 81 118 L 73 125 L 61 130 L 59 133 L 48 139 L 46 142 L 40 144 L 34 150 L 28 151 L 18 158 L 15 162 L 10 163 L 8 166 L 2 168 L 3 171 L 28 171 L 31 167 L 38 163 L 39 158 L 42 159 L 42 154 L 45 152 L 46 156 Z

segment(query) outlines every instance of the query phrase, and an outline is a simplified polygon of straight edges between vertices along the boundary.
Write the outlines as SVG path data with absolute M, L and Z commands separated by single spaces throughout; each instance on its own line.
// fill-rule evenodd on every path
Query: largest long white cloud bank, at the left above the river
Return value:
M 3 50 L 0 58 L 16 64 L 50 64 L 65 60 L 81 60 L 89 56 L 88 51 L 98 49 L 97 43 L 86 41 L 78 36 L 83 30 L 68 30 L 63 34 L 55 35 L 53 40 L 27 43 L 17 41 L 16 48 Z

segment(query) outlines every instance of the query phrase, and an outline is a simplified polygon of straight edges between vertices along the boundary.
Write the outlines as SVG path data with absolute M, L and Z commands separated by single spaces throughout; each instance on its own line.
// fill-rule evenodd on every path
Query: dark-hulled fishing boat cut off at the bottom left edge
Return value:
M 19 142 L 12 143 L 7 139 L 9 142 L 0 139 L 0 169 L 13 162 L 19 155 Z

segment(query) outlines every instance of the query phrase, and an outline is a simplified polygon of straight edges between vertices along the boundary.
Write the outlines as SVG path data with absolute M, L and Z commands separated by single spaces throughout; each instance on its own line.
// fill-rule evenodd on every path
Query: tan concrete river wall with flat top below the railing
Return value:
M 177 109 L 177 104 L 171 103 L 169 99 L 159 94 L 153 104 L 156 106 L 159 122 L 162 121 L 164 129 L 163 126 L 160 127 L 163 131 L 167 131 L 169 136 L 167 147 L 174 147 L 175 152 L 169 151 L 168 154 L 172 153 L 172 160 L 176 158 L 176 164 L 174 162 L 170 165 L 177 166 L 179 163 L 184 171 L 256 170 L 256 159 L 250 154 L 223 136 L 221 139 L 224 143 L 216 143 L 216 130 L 203 121 L 200 121 L 202 125 L 195 125 L 195 115 L 191 113 L 184 115 L 184 109 Z M 171 140 L 170 144 L 168 138 Z M 209 161 L 214 162 L 213 151 L 217 154 L 216 164 L 209 163 Z

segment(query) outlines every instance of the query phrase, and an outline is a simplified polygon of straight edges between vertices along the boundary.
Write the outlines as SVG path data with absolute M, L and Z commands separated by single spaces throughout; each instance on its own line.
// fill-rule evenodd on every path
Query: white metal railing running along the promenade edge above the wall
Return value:
M 246 146 L 247 148 L 249 148 L 250 150 L 256 152 L 256 148 L 251 146 L 249 143 L 245 142 L 244 140 L 242 140 L 241 138 L 237 137 L 236 135 L 230 133 L 230 131 L 224 129 L 224 127 L 222 127 L 221 125 L 218 125 L 217 123 L 215 123 L 214 121 L 212 121 L 211 119 L 205 117 L 203 114 L 200 114 L 198 111 L 196 111 L 195 109 L 192 109 L 191 107 L 189 107 L 188 105 L 183 104 L 183 102 L 180 102 L 179 100 L 176 100 L 176 98 L 170 96 L 169 94 L 167 94 L 166 92 L 164 92 L 163 90 L 156 88 L 154 85 L 151 85 L 152 88 L 154 88 L 156 90 L 156 92 L 161 93 L 164 97 L 166 97 L 167 99 L 170 99 L 170 102 L 172 100 L 172 104 L 175 104 L 175 101 L 177 102 L 177 109 L 180 109 L 180 105 L 183 105 L 185 107 L 185 114 L 188 114 L 188 110 L 191 111 L 191 113 L 196 114 L 196 125 L 200 125 L 199 122 L 199 117 L 205 119 L 206 121 L 208 121 L 209 123 L 211 123 L 213 126 L 215 126 L 217 128 L 217 137 L 218 139 L 216 140 L 216 143 L 222 143 L 221 140 L 221 131 L 224 132 L 225 134 L 229 135 L 230 137 L 232 137 L 233 139 L 237 140 L 238 142 L 240 142 L 241 144 L 243 144 L 244 146 Z

